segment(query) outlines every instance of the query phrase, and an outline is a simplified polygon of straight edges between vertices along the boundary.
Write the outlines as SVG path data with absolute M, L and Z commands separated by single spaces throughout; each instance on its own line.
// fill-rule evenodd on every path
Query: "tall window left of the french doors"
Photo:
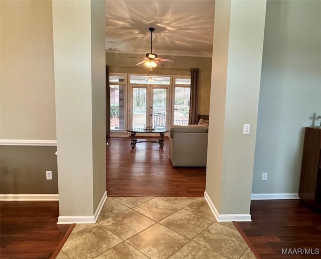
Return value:
M 126 75 L 110 74 L 110 131 L 125 131 L 126 121 Z

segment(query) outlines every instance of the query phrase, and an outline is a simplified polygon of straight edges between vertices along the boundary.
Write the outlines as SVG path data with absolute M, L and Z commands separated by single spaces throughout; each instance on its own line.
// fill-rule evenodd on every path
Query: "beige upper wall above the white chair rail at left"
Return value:
M 51 1 L 0 5 L 0 138 L 56 140 Z

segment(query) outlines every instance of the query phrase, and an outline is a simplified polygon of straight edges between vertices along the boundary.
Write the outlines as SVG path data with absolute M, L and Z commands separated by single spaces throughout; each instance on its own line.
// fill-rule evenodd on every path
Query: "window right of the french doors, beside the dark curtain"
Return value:
M 191 78 L 175 77 L 173 95 L 173 124 L 188 125 L 190 115 Z

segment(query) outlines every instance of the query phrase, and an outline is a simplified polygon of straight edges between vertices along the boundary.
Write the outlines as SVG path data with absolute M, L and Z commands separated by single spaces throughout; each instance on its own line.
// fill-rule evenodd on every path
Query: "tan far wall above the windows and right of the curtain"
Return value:
M 107 32 L 108 33 L 108 32 Z M 175 59 L 174 63 L 164 62 L 164 68 L 154 68 L 151 72 L 143 65 L 135 66 L 144 55 L 106 53 L 106 64 L 110 73 L 135 73 L 152 75 L 190 75 L 190 68 L 199 68 L 199 113 L 209 114 L 212 58 L 162 56 Z M 137 57 L 128 59 L 127 57 Z

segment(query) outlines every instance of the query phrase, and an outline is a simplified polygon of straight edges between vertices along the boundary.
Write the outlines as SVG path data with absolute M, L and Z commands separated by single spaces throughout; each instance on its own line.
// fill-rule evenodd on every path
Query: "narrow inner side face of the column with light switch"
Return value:
M 215 5 L 211 113 L 208 136 L 208 159 L 206 172 L 206 192 L 217 209 L 221 206 L 223 144 L 227 83 L 227 58 L 230 33 L 230 1 L 221 1 Z

